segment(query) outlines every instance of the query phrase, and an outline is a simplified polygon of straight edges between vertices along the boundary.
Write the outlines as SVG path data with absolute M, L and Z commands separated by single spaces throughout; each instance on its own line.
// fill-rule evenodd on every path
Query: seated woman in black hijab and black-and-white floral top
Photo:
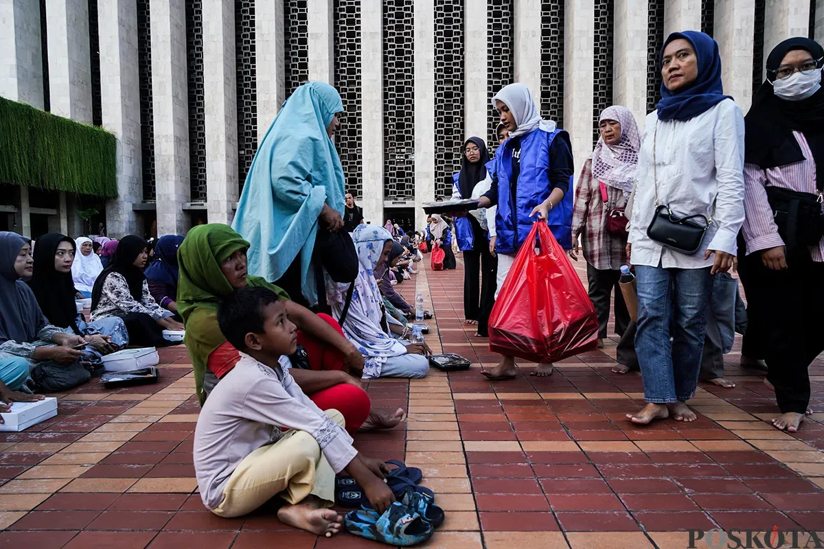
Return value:
M 171 319 L 174 314 L 152 298 L 143 268 L 147 262 L 147 243 L 136 235 L 124 236 L 108 267 L 97 277 L 91 291 L 91 320 L 117 316 L 126 323 L 129 342 L 144 347 L 169 345 L 163 330 L 182 330 L 183 324 Z

